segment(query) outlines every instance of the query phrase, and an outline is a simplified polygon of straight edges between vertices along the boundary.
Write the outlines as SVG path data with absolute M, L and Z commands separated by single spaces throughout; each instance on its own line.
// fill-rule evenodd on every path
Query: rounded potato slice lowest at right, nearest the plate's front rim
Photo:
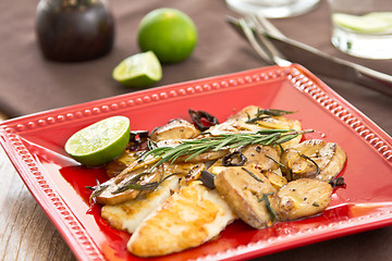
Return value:
M 280 221 L 311 216 L 327 209 L 332 186 L 326 182 L 301 178 L 281 187 L 272 203 Z

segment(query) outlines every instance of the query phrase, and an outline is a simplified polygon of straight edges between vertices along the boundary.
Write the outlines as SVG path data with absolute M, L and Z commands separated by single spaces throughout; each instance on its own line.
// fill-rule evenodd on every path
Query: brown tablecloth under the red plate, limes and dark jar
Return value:
M 35 37 L 37 2 L 0 1 L 0 112 L 11 117 L 136 90 L 117 84 L 111 78 L 111 71 L 122 59 L 139 52 L 136 44 L 138 22 L 150 10 L 160 7 L 186 12 L 196 23 L 199 42 L 186 61 L 163 65 L 163 78 L 155 86 L 267 65 L 248 44 L 225 24 L 226 14 L 240 15 L 230 11 L 223 0 L 111 0 L 117 23 L 112 51 L 101 59 L 84 63 L 50 62 L 41 57 Z M 392 60 L 355 59 L 332 47 L 326 2 L 306 15 L 277 20 L 273 23 L 289 37 L 336 57 L 392 74 Z M 387 133 L 392 133 L 392 97 L 353 83 L 321 78 Z M 392 228 L 385 227 L 258 260 L 391 259 Z

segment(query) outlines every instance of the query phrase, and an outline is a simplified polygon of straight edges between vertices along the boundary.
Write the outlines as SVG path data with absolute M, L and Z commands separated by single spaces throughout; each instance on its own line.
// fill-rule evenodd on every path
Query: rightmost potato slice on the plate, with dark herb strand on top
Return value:
M 310 139 L 285 150 L 281 160 L 287 178 L 329 182 L 343 169 L 346 154 L 338 144 Z

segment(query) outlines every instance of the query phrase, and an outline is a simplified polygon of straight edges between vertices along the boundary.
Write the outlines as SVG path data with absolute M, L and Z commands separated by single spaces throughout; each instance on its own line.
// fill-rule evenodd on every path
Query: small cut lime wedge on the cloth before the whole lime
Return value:
M 142 52 L 123 60 L 112 76 L 125 86 L 147 87 L 162 78 L 162 67 L 152 51 Z

